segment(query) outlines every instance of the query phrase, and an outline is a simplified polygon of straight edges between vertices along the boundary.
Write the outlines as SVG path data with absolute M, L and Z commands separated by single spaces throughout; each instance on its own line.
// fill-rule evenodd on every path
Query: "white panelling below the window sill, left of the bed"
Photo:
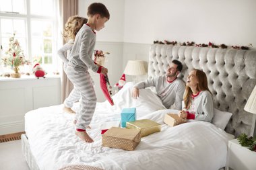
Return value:
M 0 135 L 24 131 L 26 112 L 60 103 L 60 77 L 0 77 Z

